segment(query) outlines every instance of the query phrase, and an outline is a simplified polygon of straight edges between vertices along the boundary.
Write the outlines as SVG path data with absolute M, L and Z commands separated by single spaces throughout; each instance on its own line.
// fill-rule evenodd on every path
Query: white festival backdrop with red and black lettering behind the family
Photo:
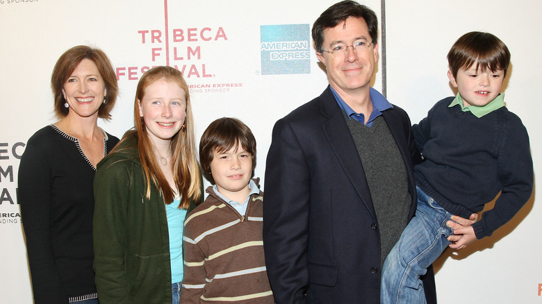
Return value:
M 113 61 L 121 92 L 113 119 L 99 124 L 117 137 L 133 126 L 142 72 L 154 65 L 184 67 L 197 137 L 218 117 L 242 119 L 258 140 L 256 176 L 263 178 L 274 121 L 318 96 L 327 79 L 311 44 L 310 59 L 286 61 L 292 71 L 269 69 L 281 60 L 264 62 L 270 53 L 262 49 L 268 40 L 261 26 L 275 28 L 279 36 L 279 29 L 305 26 L 299 37 L 275 41 L 306 41 L 315 19 L 334 2 L 298 0 L 294 7 L 290 0 L 0 0 L 0 302 L 32 303 L 17 169 L 28 137 L 56 121 L 50 76 L 64 51 L 88 44 Z M 380 17 L 384 1 L 363 3 Z M 415 123 L 433 103 L 454 94 L 446 76 L 453 42 L 468 31 L 497 35 L 512 54 L 505 101 L 529 131 L 536 178 L 542 172 L 542 107 L 536 100 L 541 12 L 538 0 L 385 1 L 386 67 L 379 67 L 374 86 L 381 90 L 385 77 L 388 99 Z M 439 303 L 542 302 L 537 185 L 525 208 L 492 237 L 447 251 L 436 262 Z

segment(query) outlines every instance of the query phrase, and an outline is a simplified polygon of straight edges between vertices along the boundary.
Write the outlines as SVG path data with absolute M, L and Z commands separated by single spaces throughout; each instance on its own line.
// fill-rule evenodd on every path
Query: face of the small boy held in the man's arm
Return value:
M 457 87 L 463 106 L 475 105 L 482 107 L 495 99 L 500 94 L 504 71 L 495 72 L 491 69 L 485 71 L 476 70 L 476 63 L 468 69 L 459 69 L 457 77 L 448 71 L 448 78 L 454 87 Z

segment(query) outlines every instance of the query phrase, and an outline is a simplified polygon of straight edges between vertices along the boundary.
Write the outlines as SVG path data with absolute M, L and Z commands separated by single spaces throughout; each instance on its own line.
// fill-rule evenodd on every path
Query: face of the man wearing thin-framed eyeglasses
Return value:
M 328 51 L 337 45 L 351 46 L 357 42 L 371 44 L 368 48 L 348 52 L 316 53 L 318 59 L 326 66 L 329 84 L 339 94 L 368 90 L 378 60 L 377 42 L 371 40 L 368 27 L 363 18 L 349 17 L 334 28 L 324 30 L 322 47 Z

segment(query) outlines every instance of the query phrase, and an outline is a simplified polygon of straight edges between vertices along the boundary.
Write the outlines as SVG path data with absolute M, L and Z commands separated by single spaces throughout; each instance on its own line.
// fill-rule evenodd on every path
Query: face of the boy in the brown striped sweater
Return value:
M 220 194 L 243 203 L 250 193 L 248 183 L 252 176 L 252 155 L 240 144 L 225 152 L 215 150 L 211 160 L 211 175 Z M 238 198 L 243 198 L 243 201 Z

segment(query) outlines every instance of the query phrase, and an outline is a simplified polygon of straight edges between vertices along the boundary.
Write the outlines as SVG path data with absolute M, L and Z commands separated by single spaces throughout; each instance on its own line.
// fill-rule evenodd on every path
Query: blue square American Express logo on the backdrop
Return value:
M 260 26 L 261 74 L 310 74 L 309 24 Z

